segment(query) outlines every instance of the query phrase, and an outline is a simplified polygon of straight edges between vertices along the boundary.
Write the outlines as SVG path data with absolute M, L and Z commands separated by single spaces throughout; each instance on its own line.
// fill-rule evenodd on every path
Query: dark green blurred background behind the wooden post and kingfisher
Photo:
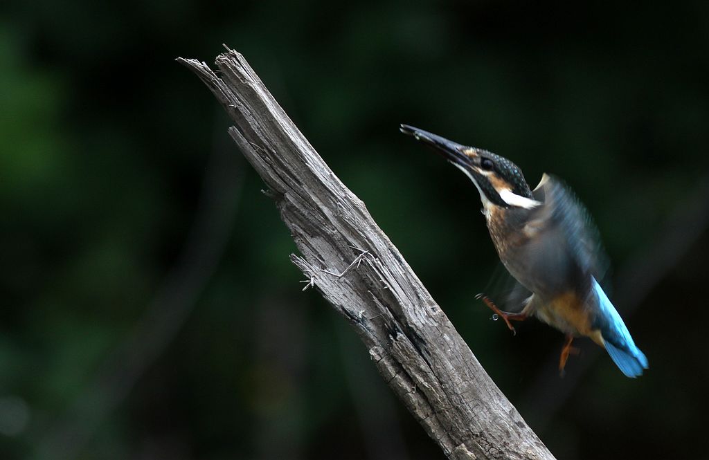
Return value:
M 174 62 L 221 43 L 559 459 L 706 457 L 709 3 L 568 3 L 4 2 L 0 458 L 442 458 L 301 292 L 227 118 Z M 580 340 L 559 378 L 559 332 L 489 320 L 477 192 L 402 122 L 574 188 L 644 376 Z

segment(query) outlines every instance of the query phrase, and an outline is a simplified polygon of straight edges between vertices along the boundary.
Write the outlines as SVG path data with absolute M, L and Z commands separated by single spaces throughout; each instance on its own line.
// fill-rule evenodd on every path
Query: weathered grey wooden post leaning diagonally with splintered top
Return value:
M 335 176 L 244 57 L 178 59 L 233 118 L 302 256 L 291 260 L 357 330 L 386 383 L 451 459 L 553 459 L 486 374 L 367 208 Z

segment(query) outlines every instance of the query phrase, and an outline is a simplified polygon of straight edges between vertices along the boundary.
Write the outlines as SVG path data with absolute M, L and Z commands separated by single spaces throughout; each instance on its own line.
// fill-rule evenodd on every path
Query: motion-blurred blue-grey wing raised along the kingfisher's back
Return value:
M 544 174 L 532 194 L 543 204 L 532 211 L 529 230 L 534 232 L 539 228 L 552 232 L 552 237 L 544 239 L 548 247 L 542 248 L 548 257 L 559 258 L 563 249 L 581 272 L 603 279 L 608 270 L 608 258 L 591 215 L 574 192 L 557 177 Z

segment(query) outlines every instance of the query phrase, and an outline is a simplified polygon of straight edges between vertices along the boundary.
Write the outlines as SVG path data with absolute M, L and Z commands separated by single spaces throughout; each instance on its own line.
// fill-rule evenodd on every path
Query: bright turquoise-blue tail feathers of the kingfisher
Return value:
M 610 303 L 596 279 L 593 279 L 593 289 L 596 291 L 599 307 L 596 326 L 601 330 L 610 359 L 613 359 L 625 376 L 632 378 L 641 376 L 642 370 L 647 369 L 648 366 L 647 357 L 635 346 L 625 322 L 620 318 L 618 311 L 615 310 L 613 303 Z

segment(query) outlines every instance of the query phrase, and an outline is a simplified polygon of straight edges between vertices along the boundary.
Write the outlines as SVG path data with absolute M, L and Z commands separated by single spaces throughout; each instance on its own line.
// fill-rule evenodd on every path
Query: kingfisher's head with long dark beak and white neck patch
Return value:
M 465 173 L 480 192 L 485 208 L 535 208 L 539 201 L 516 164 L 487 150 L 457 144 L 438 135 L 409 125 L 401 125 L 402 133 L 430 146 L 448 162 Z

